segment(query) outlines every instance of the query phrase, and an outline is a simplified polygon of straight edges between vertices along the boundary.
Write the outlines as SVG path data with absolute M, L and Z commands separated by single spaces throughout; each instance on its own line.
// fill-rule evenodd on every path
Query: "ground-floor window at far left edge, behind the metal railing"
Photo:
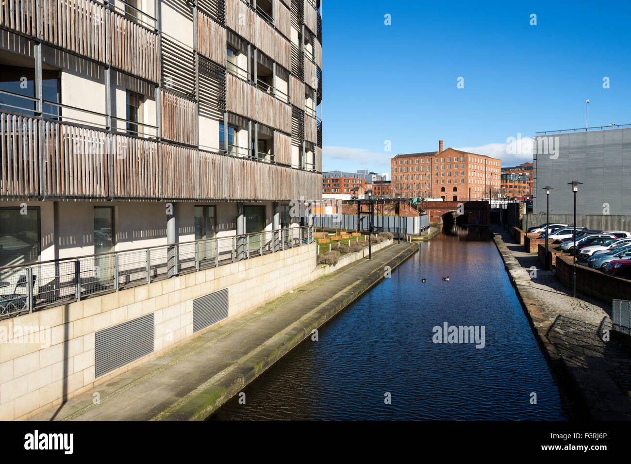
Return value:
M 39 206 L 0 208 L 0 267 L 37 262 L 40 243 Z

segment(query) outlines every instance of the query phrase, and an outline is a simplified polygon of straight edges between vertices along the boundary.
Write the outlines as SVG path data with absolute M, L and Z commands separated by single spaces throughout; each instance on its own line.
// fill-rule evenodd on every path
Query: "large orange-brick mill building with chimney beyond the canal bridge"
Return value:
M 446 201 L 497 198 L 502 161 L 443 149 L 396 155 L 391 160 L 393 198 L 442 198 Z

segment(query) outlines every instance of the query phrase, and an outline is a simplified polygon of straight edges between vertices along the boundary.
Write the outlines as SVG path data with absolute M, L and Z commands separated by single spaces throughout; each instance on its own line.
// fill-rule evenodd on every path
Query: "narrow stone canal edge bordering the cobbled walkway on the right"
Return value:
M 541 347 L 541 352 L 550 366 L 553 378 L 559 386 L 563 400 L 567 404 L 572 419 L 574 420 L 594 420 L 591 417 L 587 401 L 584 397 L 580 382 L 572 376 L 567 364 L 563 361 L 563 356 L 558 352 L 553 343 L 548 340 L 548 328 L 550 328 L 551 316 L 546 308 L 539 302 L 533 287 L 530 285 L 530 275 L 517 259 L 509 252 L 508 247 L 502 240 L 501 235 L 493 233 L 493 241 L 504 261 L 504 267 L 509 275 L 510 283 L 515 289 L 517 299 L 521 302 L 524 313 L 533 330 L 535 338 Z

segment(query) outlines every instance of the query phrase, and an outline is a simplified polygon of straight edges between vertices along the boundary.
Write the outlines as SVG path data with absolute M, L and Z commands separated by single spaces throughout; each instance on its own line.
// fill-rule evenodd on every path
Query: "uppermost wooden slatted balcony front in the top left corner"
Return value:
M 4 0 L 3 5 L 2 28 L 154 83 L 160 80 L 158 35 L 140 21 L 90 0 Z M 39 18 L 35 11 L 42 13 Z

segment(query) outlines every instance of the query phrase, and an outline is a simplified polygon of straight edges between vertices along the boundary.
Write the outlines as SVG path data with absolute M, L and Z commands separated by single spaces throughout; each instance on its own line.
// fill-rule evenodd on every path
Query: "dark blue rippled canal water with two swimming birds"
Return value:
M 484 348 L 433 343 L 445 322 L 484 326 Z M 484 229 L 421 244 L 244 392 L 245 405 L 235 397 L 210 419 L 569 419 Z

